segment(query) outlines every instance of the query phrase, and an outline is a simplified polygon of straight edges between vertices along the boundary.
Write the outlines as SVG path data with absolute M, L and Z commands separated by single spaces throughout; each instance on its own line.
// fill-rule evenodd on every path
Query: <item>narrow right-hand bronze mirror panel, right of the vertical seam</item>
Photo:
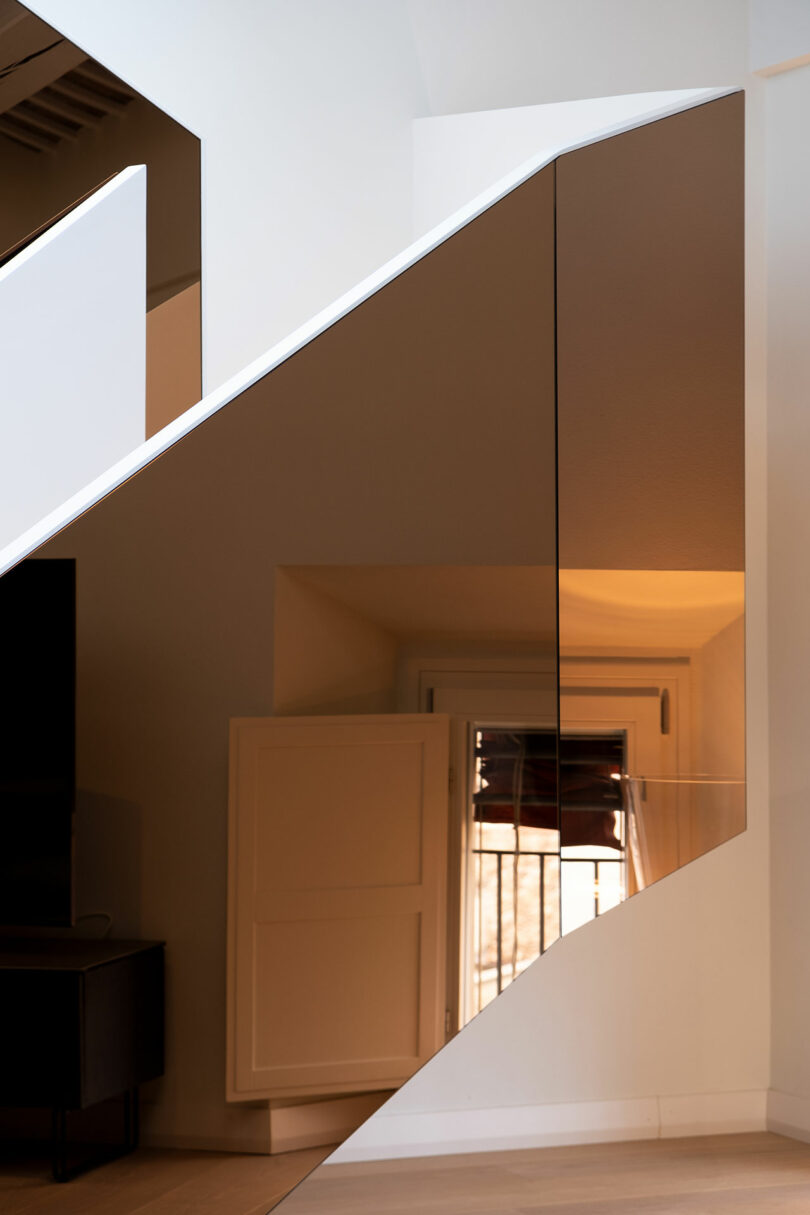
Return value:
M 561 745 L 616 742 L 628 893 L 744 827 L 742 131 L 733 95 L 557 162 Z

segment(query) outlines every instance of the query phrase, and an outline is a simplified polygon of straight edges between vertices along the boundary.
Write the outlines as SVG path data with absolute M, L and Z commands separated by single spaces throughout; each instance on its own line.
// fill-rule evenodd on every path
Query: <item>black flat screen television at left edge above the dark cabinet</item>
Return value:
M 75 561 L 0 577 L 0 925 L 70 925 Z

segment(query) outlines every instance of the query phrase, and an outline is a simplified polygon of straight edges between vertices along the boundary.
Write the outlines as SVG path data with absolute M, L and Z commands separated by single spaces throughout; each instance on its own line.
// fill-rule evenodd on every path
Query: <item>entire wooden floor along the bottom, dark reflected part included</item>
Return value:
M 57 1186 L 0 1168 L 2 1215 L 265 1215 L 323 1151 L 141 1151 Z M 318 1169 L 277 1215 L 810 1215 L 810 1145 L 723 1135 Z

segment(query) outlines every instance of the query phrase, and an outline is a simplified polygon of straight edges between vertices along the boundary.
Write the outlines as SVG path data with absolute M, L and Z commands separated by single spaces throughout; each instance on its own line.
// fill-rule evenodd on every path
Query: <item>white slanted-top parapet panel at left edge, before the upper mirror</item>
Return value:
M 0 269 L 0 547 L 143 442 L 146 170 Z

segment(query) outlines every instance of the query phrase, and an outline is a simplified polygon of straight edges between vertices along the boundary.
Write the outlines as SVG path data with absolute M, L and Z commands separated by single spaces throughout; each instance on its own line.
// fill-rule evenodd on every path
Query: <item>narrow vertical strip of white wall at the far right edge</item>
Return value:
M 810 67 L 766 91 L 771 1117 L 810 1135 Z

